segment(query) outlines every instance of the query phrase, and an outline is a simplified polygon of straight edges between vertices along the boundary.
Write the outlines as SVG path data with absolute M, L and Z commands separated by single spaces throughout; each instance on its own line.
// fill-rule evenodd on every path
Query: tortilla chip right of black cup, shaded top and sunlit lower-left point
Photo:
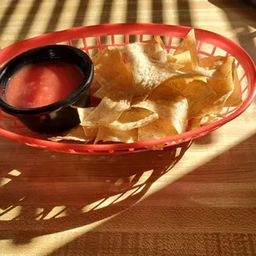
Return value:
M 123 111 L 130 108 L 132 94 L 129 92 L 109 92 L 99 105 L 81 123 L 82 126 L 107 126 L 116 121 Z

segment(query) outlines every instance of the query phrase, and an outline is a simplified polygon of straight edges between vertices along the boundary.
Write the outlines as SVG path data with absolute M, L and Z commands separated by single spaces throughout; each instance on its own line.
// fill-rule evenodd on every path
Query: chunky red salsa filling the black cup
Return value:
M 83 78 L 77 67 L 59 60 L 27 65 L 9 80 L 7 103 L 19 108 L 50 105 L 68 97 Z

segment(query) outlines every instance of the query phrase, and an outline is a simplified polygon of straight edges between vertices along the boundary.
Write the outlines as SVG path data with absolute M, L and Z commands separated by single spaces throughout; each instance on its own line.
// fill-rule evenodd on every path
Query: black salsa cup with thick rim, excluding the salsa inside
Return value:
M 84 78 L 78 88 L 69 97 L 44 107 L 21 109 L 8 105 L 5 89 L 12 75 L 27 64 L 53 59 L 73 64 L 82 71 Z M 17 116 L 30 130 L 46 134 L 69 130 L 79 124 L 76 107 L 89 106 L 89 86 L 92 78 L 92 60 L 83 50 L 69 45 L 47 45 L 28 50 L 11 59 L 0 70 L 0 107 L 6 113 Z

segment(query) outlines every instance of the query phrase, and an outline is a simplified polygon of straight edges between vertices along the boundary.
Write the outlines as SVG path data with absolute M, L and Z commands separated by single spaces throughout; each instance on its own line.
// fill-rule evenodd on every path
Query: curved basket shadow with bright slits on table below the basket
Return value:
M 0 156 L 1 169 L 8 168 L 0 178 L 0 239 L 26 244 L 36 230 L 40 235 L 69 230 L 124 211 L 170 172 L 189 146 L 109 156 L 16 147 L 12 155 L 18 160 Z

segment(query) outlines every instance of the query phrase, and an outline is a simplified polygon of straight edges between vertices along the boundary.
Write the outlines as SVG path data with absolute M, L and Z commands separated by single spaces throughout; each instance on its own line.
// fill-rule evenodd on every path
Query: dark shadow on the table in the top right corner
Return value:
M 249 31 L 249 26 L 256 29 L 256 7 L 246 4 L 244 1 L 208 1 L 225 12 L 225 16 L 239 40 L 239 45 L 241 45 L 244 50 L 249 53 L 254 62 L 256 62 L 256 47 L 254 45 L 256 32 Z

